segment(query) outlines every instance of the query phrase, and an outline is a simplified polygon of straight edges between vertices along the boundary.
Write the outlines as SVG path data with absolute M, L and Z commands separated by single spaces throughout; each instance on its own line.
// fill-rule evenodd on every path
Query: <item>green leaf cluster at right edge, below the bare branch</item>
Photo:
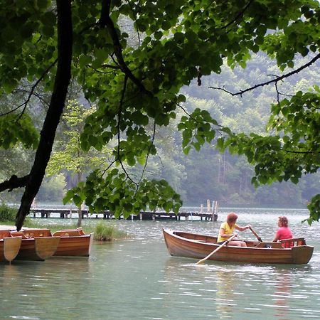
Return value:
M 302 174 L 313 174 L 320 166 L 319 88 L 314 92 L 297 92 L 291 100 L 272 105 L 270 129 L 278 135 L 262 137 L 258 134 L 230 134 L 220 138 L 221 150 L 245 154 L 250 164 L 255 164 L 252 183 L 292 181 L 298 183 Z M 318 133 L 316 133 L 318 132 Z M 311 199 L 309 209 L 316 209 L 316 199 Z M 316 218 L 316 210 L 312 210 Z

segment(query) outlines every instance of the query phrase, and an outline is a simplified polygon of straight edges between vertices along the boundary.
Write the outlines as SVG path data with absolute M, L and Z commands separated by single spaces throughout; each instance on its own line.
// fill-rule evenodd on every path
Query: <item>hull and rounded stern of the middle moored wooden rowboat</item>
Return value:
M 16 260 L 43 261 L 52 257 L 58 248 L 59 237 L 22 239 Z

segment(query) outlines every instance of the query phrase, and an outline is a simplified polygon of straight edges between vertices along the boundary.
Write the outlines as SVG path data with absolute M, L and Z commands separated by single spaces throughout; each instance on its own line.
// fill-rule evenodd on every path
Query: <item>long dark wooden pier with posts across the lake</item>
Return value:
M 88 213 L 87 210 L 82 210 L 82 218 L 102 218 L 102 219 L 115 219 L 114 214 L 110 211 L 102 213 Z M 78 209 L 48 209 L 48 208 L 31 208 L 28 215 L 30 218 L 78 218 Z M 119 219 L 123 219 L 123 215 Z M 212 220 L 216 221 L 218 215 L 210 212 L 180 212 L 166 213 L 163 211 L 144 211 L 138 215 L 129 215 L 127 220 Z

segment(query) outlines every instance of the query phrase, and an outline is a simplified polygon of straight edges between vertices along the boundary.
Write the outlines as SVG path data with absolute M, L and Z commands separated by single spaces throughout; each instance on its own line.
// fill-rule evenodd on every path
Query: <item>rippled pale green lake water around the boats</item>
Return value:
M 306 210 L 236 212 L 238 224 L 251 223 L 263 240 L 287 215 L 294 236 L 315 247 L 309 264 L 196 265 L 170 257 L 161 228 L 216 234 L 226 210 L 218 222 L 112 220 L 134 240 L 95 244 L 89 258 L 0 265 L 0 319 L 320 319 L 319 223 L 302 225 Z M 254 236 L 246 230 L 239 238 Z

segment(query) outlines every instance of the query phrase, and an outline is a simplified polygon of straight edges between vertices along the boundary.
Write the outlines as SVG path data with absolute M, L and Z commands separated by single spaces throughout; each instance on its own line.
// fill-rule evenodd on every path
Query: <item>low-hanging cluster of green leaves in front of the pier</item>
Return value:
M 124 173 L 119 174 L 118 169 L 108 172 L 107 176 L 101 176 L 100 171 L 93 171 L 85 183 L 79 183 L 78 187 L 68 191 L 64 203 L 71 198 L 76 206 L 85 200 L 91 213 L 99 213 L 108 208 L 116 217 L 123 214 L 124 218 L 146 210 L 146 203 L 149 210 L 159 207 L 166 211 L 173 209 L 178 213 L 180 208 L 180 196 L 165 180 L 143 179 L 137 185 L 127 179 Z

